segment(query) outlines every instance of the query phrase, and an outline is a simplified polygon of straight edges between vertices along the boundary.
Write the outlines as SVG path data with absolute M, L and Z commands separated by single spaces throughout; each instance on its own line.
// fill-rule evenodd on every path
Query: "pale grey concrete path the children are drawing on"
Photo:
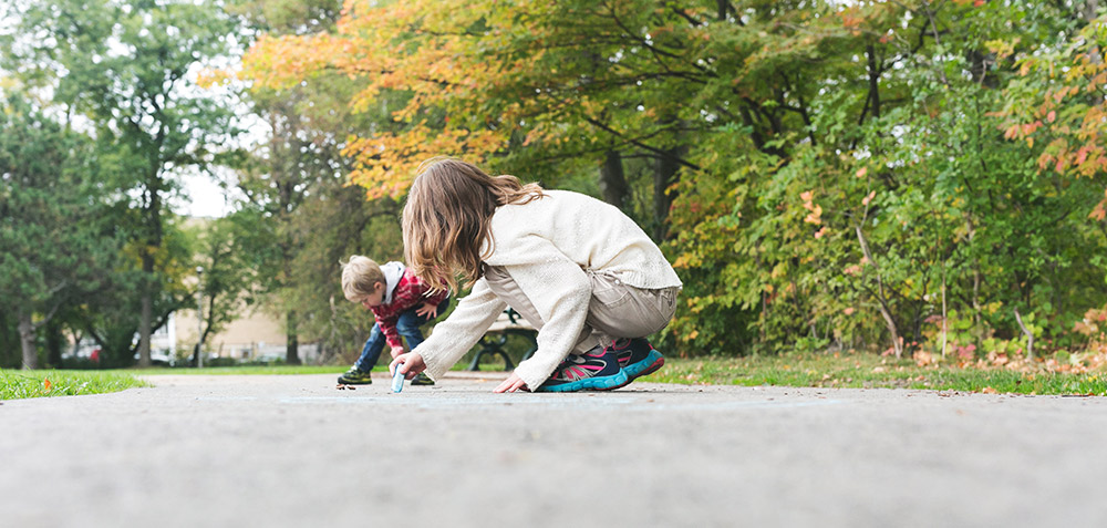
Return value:
M 0 525 L 1107 524 L 1104 398 L 334 377 L 3 402 Z

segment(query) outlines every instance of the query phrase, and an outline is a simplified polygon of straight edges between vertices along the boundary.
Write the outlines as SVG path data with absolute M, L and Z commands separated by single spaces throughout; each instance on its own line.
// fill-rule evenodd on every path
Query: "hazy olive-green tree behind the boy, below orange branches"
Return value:
M 265 0 L 242 2 L 239 12 L 257 30 L 309 38 L 331 31 L 340 8 L 337 1 Z M 386 108 L 403 97 L 393 94 L 380 107 L 354 112 L 349 102 L 360 91 L 358 81 L 323 74 L 277 90 L 255 86 L 245 97 L 268 125 L 266 139 L 239 164 L 244 214 L 257 222 L 247 245 L 259 259 L 265 300 L 286 322 L 290 363 L 299 361 L 303 335 L 324 337 L 327 355 L 353 341 L 360 346 L 372 325 L 342 300 L 341 259 L 402 255 L 396 203 L 366 204 L 364 190 L 348 185 L 352 164 L 343 151 L 361 131 L 392 127 Z

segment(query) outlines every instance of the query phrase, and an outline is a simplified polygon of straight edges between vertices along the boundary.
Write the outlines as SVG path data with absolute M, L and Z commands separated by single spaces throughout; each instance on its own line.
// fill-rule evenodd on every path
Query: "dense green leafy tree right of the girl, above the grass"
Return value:
M 780 68 L 806 71 L 811 90 L 785 99 L 806 103 L 804 126 L 759 144 L 749 123 L 724 125 L 693 153 L 705 168 L 697 178 L 728 175 L 736 186 L 730 215 L 697 208 L 703 193 L 692 186 L 679 199 L 677 263 L 723 275 L 686 289 L 699 315 L 677 321 L 684 338 L 725 340 L 706 310 L 738 301 L 758 312 L 757 342 L 769 350 L 884 343 L 900 355 L 954 310 L 970 314 L 977 343 L 1015 337 L 1016 310 L 1051 313 L 1053 335 L 1070 328 L 1077 307 L 1100 296 L 1089 289 L 1099 265 L 1073 258 L 1103 244 L 1076 213 L 1090 209 L 1097 189 L 1042 174 L 1032 151 L 1003 137 L 1011 101 L 999 87 L 1017 80 L 1016 69 L 989 53 L 1013 40 L 1032 41 L 1027 52 L 1058 49 L 1083 23 L 1066 8 L 827 6 L 816 20 L 796 13 L 797 23 L 765 30 L 792 35 L 744 63 L 757 83 L 779 79 Z M 776 10 L 772 20 L 788 17 Z M 805 42 L 814 45 L 794 55 Z M 788 56 L 804 60 L 782 62 Z M 767 158 L 735 136 L 746 133 Z M 744 155 L 734 166 L 720 152 Z M 700 248 L 717 247 L 724 227 L 736 228 L 736 244 L 723 246 L 733 253 Z M 1074 288 L 1085 294 L 1058 294 Z

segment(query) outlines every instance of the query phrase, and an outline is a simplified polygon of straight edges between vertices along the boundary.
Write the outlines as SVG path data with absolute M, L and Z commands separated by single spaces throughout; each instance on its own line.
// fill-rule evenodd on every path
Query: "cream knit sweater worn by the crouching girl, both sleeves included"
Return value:
M 658 246 L 618 208 L 568 190 L 545 193 L 541 199 L 496 209 L 490 226 L 493 252 L 485 260 L 507 269 L 545 322 L 538 332 L 538 350 L 515 369 L 530 389 L 549 377 L 584 325 L 592 296 L 584 270 L 608 271 L 638 288 L 681 286 Z M 427 375 L 441 377 L 505 308 L 485 279 L 477 280 L 418 346 Z

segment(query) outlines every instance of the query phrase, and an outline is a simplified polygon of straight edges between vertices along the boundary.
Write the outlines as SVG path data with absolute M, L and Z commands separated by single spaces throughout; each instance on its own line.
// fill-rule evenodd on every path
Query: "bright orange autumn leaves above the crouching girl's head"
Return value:
M 489 55 L 527 31 L 516 20 L 547 8 L 524 1 L 508 13 L 494 3 L 348 0 L 332 34 L 258 39 L 244 58 L 241 77 L 267 89 L 324 82 L 328 75 L 364 80 L 349 102 L 354 111 L 371 107 L 385 92 L 406 95 L 391 112 L 395 130 L 351 137 L 343 151 L 354 161 L 351 183 L 365 187 L 369 198 L 397 197 L 423 159 L 455 155 L 480 163 L 507 145 L 513 127 L 504 124 L 524 118 L 520 104 L 480 108 L 482 91 L 524 65 Z M 485 31 L 467 29 L 478 23 Z M 547 132 L 536 126 L 527 141 Z

